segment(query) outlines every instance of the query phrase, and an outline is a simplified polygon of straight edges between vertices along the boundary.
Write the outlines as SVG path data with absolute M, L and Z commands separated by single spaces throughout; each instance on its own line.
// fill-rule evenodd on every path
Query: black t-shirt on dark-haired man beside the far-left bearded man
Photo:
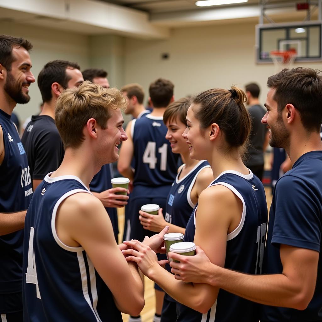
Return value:
M 48 115 L 33 115 L 21 139 L 32 179 L 43 179 L 55 171 L 64 157 L 62 139 Z

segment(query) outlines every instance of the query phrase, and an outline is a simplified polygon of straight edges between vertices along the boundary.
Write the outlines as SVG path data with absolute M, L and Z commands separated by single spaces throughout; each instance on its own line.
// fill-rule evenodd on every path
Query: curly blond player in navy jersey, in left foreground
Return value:
M 25 321 L 122 321 L 119 310 L 138 314 L 144 306 L 136 264 L 127 265 L 102 203 L 89 190 L 127 139 L 124 106 L 118 90 L 90 82 L 57 101 L 65 156 L 38 186 L 26 214 Z

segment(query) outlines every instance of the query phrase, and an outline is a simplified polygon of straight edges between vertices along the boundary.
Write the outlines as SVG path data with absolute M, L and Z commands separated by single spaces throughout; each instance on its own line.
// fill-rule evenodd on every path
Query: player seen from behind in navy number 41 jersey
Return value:
M 177 156 L 171 152 L 165 138 L 167 128 L 163 123 L 163 113 L 174 100 L 173 88 L 171 81 L 162 78 L 150 84 L 149 100 L 153 104 L 153 111 L 146 117 L 130 121 L 126 132 L 128 141 L 123 142 L 120 151 L 118 171 L 133 181 L 128 232 L 130 239 L 143 240 L 146 235 L 153 235 L 140 224 L 139 211 L 144 204 L 158 204 L 165 212 L 166 198 L 177 174 Z M 133 157 L 135 172 L 131 167 Z M 154 321 L 158 322 L 164 292 L 155 287 L 157 315 Z

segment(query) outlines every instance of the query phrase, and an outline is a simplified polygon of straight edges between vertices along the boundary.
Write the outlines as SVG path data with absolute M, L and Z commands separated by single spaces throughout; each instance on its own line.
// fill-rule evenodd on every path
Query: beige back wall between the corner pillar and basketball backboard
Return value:
M 163 41 L 127 39 L 125 43 L 125 81 L 138 82 L 147 90 L 158 77 L 174 82 L 175 98 L 214 87 L 244 87 L 251 81 L 262 89 L 265 102 L 268 76 L 273 64 L 255 63 L 255 23 L 213 24 L 176 28 Z M 162 53 L 169 53 L 162 60 Z M 321 63 L 296 64 L 322 68 Z

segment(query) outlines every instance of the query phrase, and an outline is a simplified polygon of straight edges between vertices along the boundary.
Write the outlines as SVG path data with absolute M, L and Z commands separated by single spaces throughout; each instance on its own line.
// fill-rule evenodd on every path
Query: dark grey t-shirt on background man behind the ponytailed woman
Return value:
M 260 105 L 253 105 L 248 109 L 251 117 L 251 133 L 249 136 L 251 146 L 248 149 L 246 166 L 258 166 L 264 164 L 263 145 L 267 132 L 266 124 L 261 123 L 265 110 Z

